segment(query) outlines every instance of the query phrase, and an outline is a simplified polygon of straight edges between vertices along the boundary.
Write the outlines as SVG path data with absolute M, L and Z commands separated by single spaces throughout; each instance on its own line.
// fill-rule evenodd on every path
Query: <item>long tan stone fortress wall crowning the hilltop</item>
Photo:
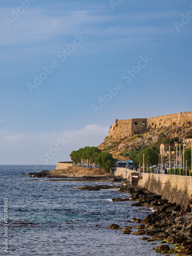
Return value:
M 127 120 L 115 120 L 112 124 L 108 137 L 123 138 L 132 137 L 137 134 L 153 132 L 156 129 L 163 129 L 170 125 L 179 127 L 192 126 L 192 112 L 180 112 L 178 114 L 157 116 L 152 118 L 138 118 Z

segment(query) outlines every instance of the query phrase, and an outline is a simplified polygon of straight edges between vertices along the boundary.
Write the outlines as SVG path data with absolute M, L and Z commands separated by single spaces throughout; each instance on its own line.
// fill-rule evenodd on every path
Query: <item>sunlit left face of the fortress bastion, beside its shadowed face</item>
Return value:
M 113 139 L 132 136 L 132 119 L 118 120 L 114 127 Z

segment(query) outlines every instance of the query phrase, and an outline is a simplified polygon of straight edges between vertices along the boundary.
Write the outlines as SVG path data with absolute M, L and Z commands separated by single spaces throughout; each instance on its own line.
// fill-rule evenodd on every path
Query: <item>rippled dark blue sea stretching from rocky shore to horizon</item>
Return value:
M 106 228 L 111 224 L 124 228 L 129 225 L 126 220 L 144 218 L 149 213 L 146 208 L 130 206 L 126 201 L 111 201 L 128 196 L 114 189 L 76 189 L 110 182 L 47 181 L 24 175 L 54 168 L 53 165 L 0 165 L 0 255 L 158 255 L 151 248 L 159 242 L 151 245 L 139 239 L 143 236 Z M 4 252 L 4 198 L 8 198 L 9 211 L 8 253 Z

